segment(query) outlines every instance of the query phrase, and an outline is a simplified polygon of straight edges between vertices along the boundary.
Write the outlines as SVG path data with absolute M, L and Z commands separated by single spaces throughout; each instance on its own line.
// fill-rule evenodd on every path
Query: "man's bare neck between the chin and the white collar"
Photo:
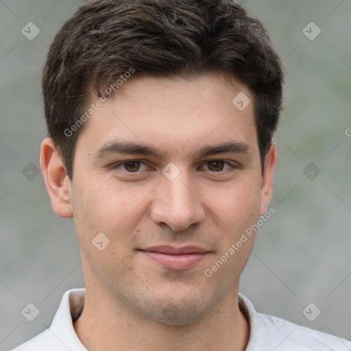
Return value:
M 180 349 L 244 351 L 250 325 L 239 309 L 238 285 L 197 322 L 173 326 L 138 315 L 106 290 L 86 282 L 84 310 L 75 332 L 90 351 Z

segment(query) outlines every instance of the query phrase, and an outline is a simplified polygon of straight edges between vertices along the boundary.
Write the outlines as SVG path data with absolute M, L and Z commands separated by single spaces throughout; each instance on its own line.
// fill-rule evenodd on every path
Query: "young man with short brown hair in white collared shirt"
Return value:
M 51 44 L 40 165 L 85 290 L 20 350 L 351 350 L 239 293 L 269 208 L 282 69 L 230 0 L 96 0 Z M 248 230 L 254 228 L 254 230 Z

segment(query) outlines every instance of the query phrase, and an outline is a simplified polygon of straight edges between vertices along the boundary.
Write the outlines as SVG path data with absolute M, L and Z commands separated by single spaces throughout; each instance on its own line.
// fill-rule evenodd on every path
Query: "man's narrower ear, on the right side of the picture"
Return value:
M 267 211 L 269 202 L 273 195 L 273 173 L 276 168 L 277 154 L 276 154 L 276 143 L 271 142 L 271 147 L 265 157 L 265 171 L 262 176 L 261 185 L 261 209 L 260 216 L 264 215 Z

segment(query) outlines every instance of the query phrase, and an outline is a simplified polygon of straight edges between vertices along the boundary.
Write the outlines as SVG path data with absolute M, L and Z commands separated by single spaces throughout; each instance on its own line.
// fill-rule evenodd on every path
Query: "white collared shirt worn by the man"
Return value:
M 12 351 L 88 351 L 73 327 L 84 293 L 85 289 L 66 291 L 50 328 Z M 351 341 L 256 312 L 241 293 L 239 304 L 250 322 L 246 351 L 351 351 Z

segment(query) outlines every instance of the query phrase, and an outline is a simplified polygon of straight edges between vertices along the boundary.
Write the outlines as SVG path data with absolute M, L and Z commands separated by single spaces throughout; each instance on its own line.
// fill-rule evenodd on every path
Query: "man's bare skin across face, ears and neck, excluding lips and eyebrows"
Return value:
M 239 309 L 239 277 L 254 235 L 212 277 L 204 274 L 265 213 L 272 195 L 276 145 L 262 174 L 253 104 L 234 106 L 239 92 L 253 101 L 250 90 L 223 75 L 130 79 L 84 125 L 72 180 L 52 140 L 43 141 L 51 206 L 74 217 L 84 258 L 86 302 L 74 327 L 88 350 L 245 350 L 250 326 Z M 97 156 L 110 141 L 164 155 Z M 197 154 L 223 142 L 246 144 L 247 152 Z M 112 167 L 126 160 L 142 163 Z M 162 174 L 169 162 L 180 171 L 173 180 Z M 92 244 L 99 232 L 110 240 L 102 251 Z M 174 270 L 138 251 L 154 245 L 209 253 Z

